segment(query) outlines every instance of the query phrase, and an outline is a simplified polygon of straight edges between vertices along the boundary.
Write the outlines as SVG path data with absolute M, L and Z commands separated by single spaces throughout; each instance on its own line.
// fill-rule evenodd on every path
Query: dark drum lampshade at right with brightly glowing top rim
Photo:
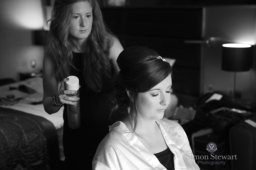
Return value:
M 252 67 L 252 47 L 247 44 L 223 44 L 221 69 L 248 71 Z

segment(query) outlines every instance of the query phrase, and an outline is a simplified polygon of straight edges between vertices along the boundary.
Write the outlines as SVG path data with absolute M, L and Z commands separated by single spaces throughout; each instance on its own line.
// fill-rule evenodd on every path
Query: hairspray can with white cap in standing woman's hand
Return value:
M 79 79 L 76 76 L 68 76 L 69 81 L 66 82 L 67 90 L 77 90 L 76 94 L 67 94 L 69 97 L 79 97 Z M 80 100 L 77 105 L 67 104 L 68 108 L 68 125 L 72 129 L 77 129 L 81 125 L 80 120 Z

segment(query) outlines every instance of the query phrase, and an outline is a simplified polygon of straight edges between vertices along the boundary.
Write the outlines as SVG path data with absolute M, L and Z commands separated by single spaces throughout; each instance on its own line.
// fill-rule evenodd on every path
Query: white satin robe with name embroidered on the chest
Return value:
M 186 159 L 192 151 L 183 128 L 174 121 L 156 121 L 170 151 L 174 154 L 174 168 L 199 169 L 194 159 Z M 94 170 L 166 170 L 138 138 L 132 133 L 124 133 L 128 128 L 121 121 L 109 126 L 109 134 L 101 141 L 92 166 Z

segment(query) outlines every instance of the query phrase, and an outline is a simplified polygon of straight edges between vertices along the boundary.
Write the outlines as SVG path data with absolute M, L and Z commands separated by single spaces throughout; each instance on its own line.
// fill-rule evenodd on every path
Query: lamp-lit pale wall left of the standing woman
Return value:
M 0 79 L 19 80 L 19 72 L 31 72 L 31 59 L 36 70 L 42 69 L 43 46 L 32 44 L 32 31 L 43 27 L 41 0 L 0 1 Z

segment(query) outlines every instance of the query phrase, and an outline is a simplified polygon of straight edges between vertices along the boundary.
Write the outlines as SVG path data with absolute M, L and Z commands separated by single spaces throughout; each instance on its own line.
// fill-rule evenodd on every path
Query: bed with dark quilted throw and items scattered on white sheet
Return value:
M 0 86 L 0 169 L 59 169 L 63 108 L 47 114 L 42 95 L 41 77 Z

